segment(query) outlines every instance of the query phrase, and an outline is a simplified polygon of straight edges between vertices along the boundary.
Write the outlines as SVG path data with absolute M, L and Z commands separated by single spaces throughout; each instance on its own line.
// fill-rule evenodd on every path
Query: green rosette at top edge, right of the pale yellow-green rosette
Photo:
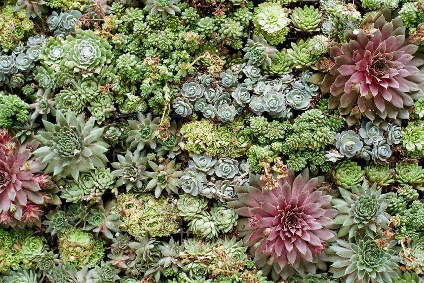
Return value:
M 305 5 L 303 8 L 295 7 L 290 14 L 295 30 L 298 32 L 318 32 L 321 22 L 318 9 Z

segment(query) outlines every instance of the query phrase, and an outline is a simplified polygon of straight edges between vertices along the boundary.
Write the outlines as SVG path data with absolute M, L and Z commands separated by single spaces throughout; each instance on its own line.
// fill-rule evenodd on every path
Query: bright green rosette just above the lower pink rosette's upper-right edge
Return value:
M 344 189 L 350 189 L 364 179 L 361 166 L 348 160 L 337 163 L 331 170 L 331 174 L 336 184 Z

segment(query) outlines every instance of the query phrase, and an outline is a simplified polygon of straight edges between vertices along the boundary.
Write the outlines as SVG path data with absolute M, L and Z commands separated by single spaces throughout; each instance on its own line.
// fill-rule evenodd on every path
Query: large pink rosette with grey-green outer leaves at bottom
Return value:
M 298 273 L 315 273 L 321 267 L 317 255 L 334 237 L 327 227 L 335 210 L 331 196 L 317 190 L 323 177 L 309 179 L 307 170 L 293 171 L 266 189 L 259 175 L 250 175 L 249 186 L 237 186 L 237 198 L 228 204 L 245 218 L 237 229 L 251 246 L 256 265 L 273 279 Z

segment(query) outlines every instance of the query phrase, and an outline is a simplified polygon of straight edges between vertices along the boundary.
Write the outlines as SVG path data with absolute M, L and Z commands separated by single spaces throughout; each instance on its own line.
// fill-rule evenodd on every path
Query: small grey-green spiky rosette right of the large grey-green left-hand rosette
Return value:
M 136 148 L 137 151 L 140 151 L 146 145 L 151 149 L 155 149 L 160 118 L 153 118 L 151 113 L 147 114 L 147 116 L 138 113 L 137 118 L 137 120 L 128 121 L 130 131 L 126 142 L 130 143 L 130 149 Z

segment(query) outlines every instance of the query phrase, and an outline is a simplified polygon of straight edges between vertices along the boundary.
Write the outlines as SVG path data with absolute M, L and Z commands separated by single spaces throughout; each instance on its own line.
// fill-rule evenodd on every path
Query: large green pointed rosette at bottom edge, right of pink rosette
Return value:
M 377 240 L 369 236 L 361 238 L 357 233 L 353 243 L 340 239 L 331 245 L 328 260 L 333 262 L 330 268 L 333 277 L 345 283 L 392 283 L 392 279 L 399 278 L 401 258 L 397 256 L 396 241 L 381 247 Z

